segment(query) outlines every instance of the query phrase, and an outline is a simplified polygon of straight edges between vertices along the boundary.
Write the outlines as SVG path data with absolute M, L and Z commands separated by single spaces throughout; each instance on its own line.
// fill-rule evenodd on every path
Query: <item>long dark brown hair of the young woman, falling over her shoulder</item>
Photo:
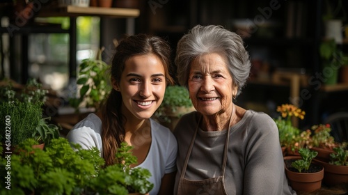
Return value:
M 166 83 L 173 84 L 169 74 L 171 67 L 171 47 L 168 42 L 157 36 L 138 34 L 127 36 L 120 40 L 116 54 L 111 62 L 111 78 L 120 83 L 120 77 L 125 69 L 125 62 L 132 56 L 155 54 L 164 64 Z M 102 107 L 102 146 L 106 166 L 117 163 L 116 150 L 125 141 L 125 118 L 121 114 L 122 96 L 119 91 L 111 90 Z

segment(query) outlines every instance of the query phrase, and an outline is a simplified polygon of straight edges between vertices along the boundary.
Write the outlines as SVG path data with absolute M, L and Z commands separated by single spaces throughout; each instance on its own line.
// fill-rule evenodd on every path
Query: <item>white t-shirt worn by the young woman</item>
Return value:
M 161 178 L 166 173 L 176 171 L 177 141 L 167 127 L 150 118 L 152 142 L 145 160 L 137 167 L 148 169 L 152 174 L 149 179 L 154 184 L 150 195 L 157 194 L 161 187 Z M 77 123 L 67 135 L 72 143 L 79 143 L 82 148 L 96 147 L 102 157 L 102 120 L 95 114 L 89 114 Z

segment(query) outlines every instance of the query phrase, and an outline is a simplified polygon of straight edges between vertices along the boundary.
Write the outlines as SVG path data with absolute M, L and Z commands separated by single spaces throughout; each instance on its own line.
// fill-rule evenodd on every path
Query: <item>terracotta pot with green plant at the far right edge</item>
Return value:
M 328 186 L 348 185 L 348 150 L 343 146 L 333 148 L 330 161 L 315 159 L 324 166 L 324 183 Z

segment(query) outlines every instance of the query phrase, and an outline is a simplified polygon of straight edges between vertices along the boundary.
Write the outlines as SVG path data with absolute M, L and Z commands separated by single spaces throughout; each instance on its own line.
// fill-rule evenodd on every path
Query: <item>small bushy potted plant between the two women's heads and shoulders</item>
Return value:
M 163 102 L 155 112 L 155 118 L 159 123 L 173 130 L 180 117 L 191 111 L 195 109 L 187 88 L 178 85 L 167 86 Z

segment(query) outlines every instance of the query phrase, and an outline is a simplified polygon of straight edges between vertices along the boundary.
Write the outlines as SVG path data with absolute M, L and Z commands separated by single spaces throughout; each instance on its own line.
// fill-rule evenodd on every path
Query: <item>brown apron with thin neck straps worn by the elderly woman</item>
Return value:
M 235 111 L 235 107 L 233 107 L 232 114 Z M 232 118 L 231 114 L 231 118 Z M 230 118 L 230 120 L 231 120 Z M 196 134 L 198 132 L 198 126 L 200 124 L 200 120 L 202 119 L 202 116 L 200 116 L 198 125 L 196 127 L 196 132 L 193 134 L 193 138 L 191 140 L 191 144 L 189 146 L 189 150 L 187 151 L 186 159 L 184 162 L 184 167 L 182 169 L 182 173 L 179 180 L 179 186 L 177 188 L 177 194 L 180 195 L 227 195 L 226 188 L 225 188 L 225 182 L 224 182 L 224 175 L 225 175 L 225 169 L 226 169 L 226 163 L 227 163 L 227 153 L 228 153 L 228 141 L 230 139 L 230 125 L 228 125 L 228 133 L 226 137 L 226 142 L 223 150 L 223 166 L 221 167 L 221 176 L 216 178 L 208 178 L 205 180 L 188 180 L 185 179 L 185 173 L 187 170 L 187 164 L 189 162 L 189 157 L 192 152 L 193 143 L 196 139 Z M 230 123 L 228 123 L 230 124 Z

